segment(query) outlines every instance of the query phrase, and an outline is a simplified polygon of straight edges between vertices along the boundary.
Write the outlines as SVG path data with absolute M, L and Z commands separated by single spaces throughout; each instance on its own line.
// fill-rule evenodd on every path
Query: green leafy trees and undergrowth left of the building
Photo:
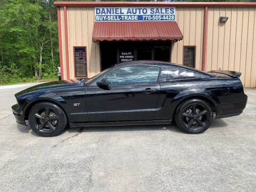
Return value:
M 1 0 L 1 84 L 57 77 L 58 24 L 53 2 Z

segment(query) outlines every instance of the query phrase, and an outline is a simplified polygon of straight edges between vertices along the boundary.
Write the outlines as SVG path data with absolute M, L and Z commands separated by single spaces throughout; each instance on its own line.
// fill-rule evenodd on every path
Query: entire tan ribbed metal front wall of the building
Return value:
M 172 42 L 171 61 L 183 64 L 183 46 L 196 46 L 196 69 L 203 65 L 203 33 L 205 7 L 176 7 L 176 21 L 183 34 L 179 42 Z M 65 24 L 61 11 L 62 57 L 64 78 L 67 78 Z M 241 71 L 245 86 L 256 86 L 256 8 L 209 7 L 207 17 L 205 70 Z M 220 16 L 229 17 L 220 23 Z M 87 47 L 87 74 L 100 71 L 99 42 L 92 42 L 94 7 L 67 6 L 69 76 L 75 78 L 73 46 Z

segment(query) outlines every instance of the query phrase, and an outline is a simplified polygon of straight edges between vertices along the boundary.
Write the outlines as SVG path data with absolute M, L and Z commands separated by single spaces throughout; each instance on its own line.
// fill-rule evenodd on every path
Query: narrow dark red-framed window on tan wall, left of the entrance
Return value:
M 75 72 L 76 77 L 87 76 L 86 47 L 75 47 Z

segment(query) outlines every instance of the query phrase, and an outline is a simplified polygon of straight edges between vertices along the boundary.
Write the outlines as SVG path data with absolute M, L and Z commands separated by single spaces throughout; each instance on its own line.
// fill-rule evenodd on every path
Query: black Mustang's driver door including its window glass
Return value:
M 103 77 L 109 81 L 108 87 L 92 83 L 85 95 L 90 121 L 152 119 L 159 97 L 159 71 L 158 66 L 125 66 Z

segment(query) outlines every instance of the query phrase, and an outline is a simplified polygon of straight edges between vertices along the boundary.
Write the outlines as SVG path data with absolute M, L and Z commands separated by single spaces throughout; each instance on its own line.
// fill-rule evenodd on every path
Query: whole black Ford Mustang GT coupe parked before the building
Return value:
M 170 124 L 201 133 L 213 116 L 239 115 L 247 96 L 235 71 L 209 71 L 160 61 L 121 63 L 78 83 L 50 82 L 17 94 L 18 123 L 55 136 L 70 127 Z

